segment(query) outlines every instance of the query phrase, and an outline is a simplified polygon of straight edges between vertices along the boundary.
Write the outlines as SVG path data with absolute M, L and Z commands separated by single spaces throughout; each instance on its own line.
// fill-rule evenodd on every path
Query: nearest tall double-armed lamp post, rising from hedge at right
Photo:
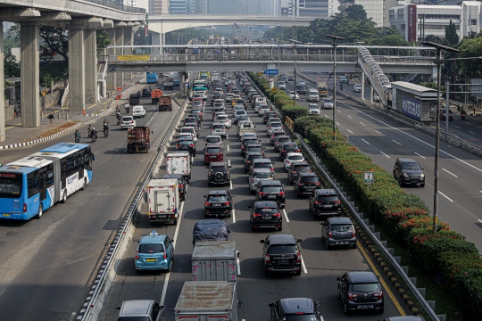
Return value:
M 442 82 L 440 75 L 440 65 L 442 64 L 441 52 L 442 50 L 446 52 L 460 53 L 459 49 L 455 49 L 446 45 L 439 45 L 430 41 L 423 42 L 422 45 L 428 45 L 436 48 L 436 157 L 435 157 L 435 179 L 434 179 L 434 233 L 437 232 L 438 225 L 438 158 L 440 154 L 440 83 Z M 448 115 L 446 115 L 448 118 Z

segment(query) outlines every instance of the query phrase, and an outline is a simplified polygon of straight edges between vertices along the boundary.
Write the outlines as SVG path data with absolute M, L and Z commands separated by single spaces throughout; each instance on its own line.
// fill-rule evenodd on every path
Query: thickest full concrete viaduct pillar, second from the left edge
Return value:
M 21 22 L 21 126 L 40 126 L 40 67 L 38 25 Z

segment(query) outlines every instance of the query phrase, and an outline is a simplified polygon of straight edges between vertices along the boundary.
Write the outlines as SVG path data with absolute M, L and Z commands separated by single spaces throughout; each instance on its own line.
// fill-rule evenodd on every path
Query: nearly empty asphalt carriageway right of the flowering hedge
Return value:
M 309 81 L 307 85 L 315 86 Z M 293 82 L 288 82 L 287 91 L 293 88 Z M 307 107 L 308 102 L 305 100 L 304 95 L 301 95 L 297 103 Z M 332 118 L 332 114 L 332 110 L 321 110 L 320 116 Z M 459 119 L 453 121 L 464 125 L 461 122 Z M 393 172 L 398 157 L 410 157 L 418 161 L 420 166 L 425 168 L 425 187 L 403 188 L 407 193 L 419 195 L 428 207 L 433 209 L 433 136 L 406 127 L 383 113 L 364 108 L 342 96 L 337 96 L 337 128 L 349 136 L 351 144 L 390 173 Z M 470 242 L 476 243 L 478 249 L 482 249 L 482 215 L 478 210 L 482 206 L 482 191 L 479 188 L 482 161 L 477 156 L 442 141 L 440 149 L 439 219 L 450 223 L 453 230 L 466 235 Z

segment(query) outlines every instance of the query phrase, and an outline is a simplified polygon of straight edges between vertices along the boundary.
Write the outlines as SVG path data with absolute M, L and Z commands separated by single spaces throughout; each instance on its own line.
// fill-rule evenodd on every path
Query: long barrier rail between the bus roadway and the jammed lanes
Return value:
M 153 177 L 153 173 L 154 173 L 154 170 L 155 170 L 156 166 L 158 166 L 158 162 L 160 161 L 163 153 L 165 152 L 166 148 L 170 144 L 170 136 L 172 135 L 172 133 L 178 127 L 179 118 L 182 115 L 183 111 L 186 109 L 186 106 L 187 106 L 187 103 L 188 103 L 187 100 L 182 105 L 175 98 L 173 98 L 173 100 L 176 103 L 178 103 L 178 105 L 180 106 L 179 111 L 177 112 L 176 117 L 173 119 L 172 123 L 170 124 L 170 127 L 169 127 L 168 131 L 166 132 L 166 134 L 162 138 L 161 145 L 157 149 L 157 154 L 154 155 L 153 159 L 151 160 L 152 166 L 148 170 L 147 174 L 145 174 L 145 177 L 142 181 L 142 185 L 138 188 L 136 196 L 134 197 L 134 200 L 129 205 L 128 213 L 127 213 L 126 217 L 124 218 L 124 220 L 122 221 L 120 229 L 117 232 L 117 234 L 115 235 L 115 238 L 114 238 L 112 244 L 110 245 L 109 251 L 105 255 L 105 259 L 102 263 L 100 271 L 96 276 L 96 280 L 94 282 L 94 285 L 92 286 L 92 291 L 89 293 L 89 296 L 87 297 L 87 300 L 83 305 L 83 308 L 80 310 L 79 317 L 77 317 L 77 320 L 84 321 L 84 320 L 89 320 L 90 317 L 92 317 L 92 312 L 94 311 L 94 308 L 96 307 L 96 302 L 99 299 L 99 295 L 103 291 L 106 276 L 108 275 L 109 270 L 112 268 L 112 265 L 115 263 L 115 257 L 116 257 L 117 252 L 119 251 L 120 243 L 122 243 L 122 241 L 124 239 L 125 232 L 128 229 L 129 224 L 131 223 L 132 218 L 134 217 L 134 214 L 137 210 L 137 206 L 139 205 L 139 202 L 143 198 L 145 186 L 147 185 L 147 183 L 149 182 L 151 177 Z

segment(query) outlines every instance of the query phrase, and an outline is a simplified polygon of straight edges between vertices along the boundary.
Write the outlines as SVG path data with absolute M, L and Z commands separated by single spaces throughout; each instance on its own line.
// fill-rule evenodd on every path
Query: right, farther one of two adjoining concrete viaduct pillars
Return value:
M 99 99 L 97 89 L 97 31 L 84 30 L 86 62 L 86 102 L 96 103 Z

